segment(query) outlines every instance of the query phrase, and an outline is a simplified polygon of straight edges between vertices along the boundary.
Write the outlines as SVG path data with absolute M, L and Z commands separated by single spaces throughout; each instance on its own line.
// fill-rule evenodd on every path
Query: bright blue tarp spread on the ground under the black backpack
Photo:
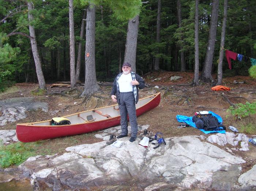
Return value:
M 209 113 L 211 113 L 213 116 L 215 116 L 218 119 L 219 123 L 223 122 L 221 116 L 219 116 L 218 114 L 216 114 L 214 112 L 211 112 L 211 111 L 209 111 Z M 196 124 L 192 121 L 192 117 L 177 115 L 176 118 L 177 118 L 178 122 L 185 122 L 186 124 L 196 128 Z M 220 127 L 220 129 L 221 128 L 222 127 Z M 211 131 L 210 130 L 206 131 L 206 130 L 203 130 L 203 129 L 199 129 L 199 130 L 204 132 L 205 134 L 209 134 L 209 133 L 226 133 L 226 131 L 224 129 L 223 130 L 211 130 Z

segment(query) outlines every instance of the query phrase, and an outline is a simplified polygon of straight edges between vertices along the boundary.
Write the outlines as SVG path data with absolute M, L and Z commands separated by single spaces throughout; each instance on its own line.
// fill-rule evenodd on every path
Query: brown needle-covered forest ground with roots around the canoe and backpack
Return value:
M 181 76 L 181 79 L 171 81 L 171 77 Z M 189 86 L 188 84 L 193 79 L 193 73 L 185 72 L 168 72 L 160 71 L 143 76 L 145 82 L 149 87 L 145 87 L 140 90 L 139 97 L 146 97 L 148 95 L 161 92 L 161 102 L 157 108 L 144 113 L 138 117 L 139 125 L 150 125 L 148 130 L 150 132 L 162 132 L 164 137 L 176 137 L 186 135 L 203 135 L 202 131 L 193 128 L 178 128 L 179 122 L 176 119 L 176 115 L 193 116 L 196 111 L 199 110 L 211 110 L 217 113 L 223 118 L 223 124 L 228 127 L 233 125 L 240 129 L 240 126 L 250 121 L 254 126 L 256 125 L 256 116 L 245 118 L 243 120 L 235 120 L 232 116 L 228 115 L 227 109 L 230 107 L 229 102 L 233 104 L 243 103 L 246 101 L 256 101 L 256 79 L 252 79 L 248 76 L 234 76 L 223 78 L 223 85 L 230 87 L 230 91 L 212 91 L 210 84 L 203 84 L 200 86 Z M 244 83 L 233 83 L 233 81 Z M 184 85 L 187 84 L 187 85 Z M 34 101 L 47 102 L 49 106 L 49 112 L 46 113 L 42 110 L 27 112 L 27 118 L 19 120 L 16 123 L 23 122 L 35 122 L 49 120 L 52 117 L 66 116 L 68 114 L 81 112 L 84 110 L 99 108 L 101 106 L 113 105 L 110 98 L 111 86 L 101 86 L 101 92 L 91 96 L 87 99 L 80 98 L 78 95 L 83 91 L 83 86 L 79 86 L 77 89 L 70 89 L 68 87 L 52 87 L 51 84 L 47 85 L 47 93 L 43 95 L 35 95 L 38 84 L 34 83 L 17 83 L 19 91 L 3 95 L 0 100 L 13 98 L 13 97 L 34 97 Z M 154 86 L 159 86 L 155 88 Z M 61 93 L 65 93 L 61 95 Z M 223 96 L 224 95 L 224 96 Z M 226 98 L 225 98 L 226 97 Z M 51 114 L 56 111 L 56 114 Z M 15 129 L 16 123 L 9 123 L 1 126 L 1 130 Z M 231 132 L 227 129 L 227 132 Z M 95 138 L 94 135 L 97 132 L 85 133 L 82 135 L 60 137 L 52 140 L 41 141 L 41 146 L 38 149 L 38 154 L 53 154 L 64 153 L 65 148 L 80 145 L 90 144 L 102 141 L 102 139 Z M 253 136 L 245 133 L 248 137 Z M 255 135 L 255 134 L 254 134 Z M 231 145 L 219 146 L 220 148 L 229 147 Z M 248 170 L 254 164 L 256 164 L 256 147 L 249 146 L 250 151 L 233 151 L 236 156 L 242 157 L 247 162 L 243 166 L 243 171 Z

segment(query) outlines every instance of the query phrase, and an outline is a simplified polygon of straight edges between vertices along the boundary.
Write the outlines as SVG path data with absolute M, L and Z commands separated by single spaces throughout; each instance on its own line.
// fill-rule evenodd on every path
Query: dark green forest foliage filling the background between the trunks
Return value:
M 140 0 L 74 0 L 74 26 L 76 47 L 82 42 L 80 27 L 84 13 L 89 3 L 96 5 L 95 32 L 95 64 L 97 80 L 113 81 L 119 72 L 119 64 L 123 62 L 127 34 L 127 21 L 139 14 L 139 31 L 136 51 L 136 71 L 143 75 L 154 68 L 154 59 L 159 58 L 162 70 L 178 70 L 180 64 L 179 51 L 184 51 L 186 69 L 194 66 L 194 22 L 195 1 L 181 0 L 181 28 L 178 28 L 177 1 L 162 0 L 160 42 L 156 41 L 158 1 L 148 1 L 142 4 Z M 67 0 L 33 0 L 34 10 L 30 13 L 33 20 L 28 21 L 26 1 L 0 0 L 0 17 L 8 15 L 12 10 L 22 7 L 18 12 L 0 24 L 0 31 L 6 34 L 23 32 L 29 34 L 29 24 L 35 28 L 38 52 L 42 61 L 45 80 L 69 80 L 69 6 Z M 226 24 L 225 48 L 239 54 L 253 57 L 256 48 L 256 1 L 230 0 Z M 221 42 L 221 25 L 223 18 L 223 1 L 219 3 L 219 17 L 214 51 L 214 67 L 217 71 L 219 46 Z M 125 20 L 125 22 L 123 22 Z M 211 2 L 199 3 L 199 70 L 203 68 L 207 48 L 209 26 L 211 20 Z M 84 32 L 85 34 L 85 32 Z M 1 48 L 5 47 L 4 61 L 0 64 L 2 74 L 0 87 L 8 85 L 9 81 L 36 82 L 35 66 L 30 40 L 22 35 L 12 35 L 1 38 Z M 181 46 L 181 47 L 180 47 Z M 17 48 L 15 55 L 10 47 Z M 6 51 L 8 49 L 8 52 Z M 75 54 L 77 55 L 77 50 Z M 10 51 L 10 54 L 9 54 Z M 8 53 L 8 54 L 7 54 Z M 81 79 L 84 78 L 84 46 L 82 46 Z M 76 58 L 77 60 L 77 58 Z M 223 59 L 223 77 L 226 75 L 248 75 L 249 62 L 232 62 L 232 70 L 228 69 L 227 61 Z M 58 63 L 60 68 L 57 70 Z M 4 69 L 3 69 L 4 67 Z M 15 69 L 15 71 L 14 71 Z M 56 71 L 60 71 L 57 79 Z M 11 72 L 11 74 L 10 74 Z M 3 82 L 5 85 L 3 85 Z

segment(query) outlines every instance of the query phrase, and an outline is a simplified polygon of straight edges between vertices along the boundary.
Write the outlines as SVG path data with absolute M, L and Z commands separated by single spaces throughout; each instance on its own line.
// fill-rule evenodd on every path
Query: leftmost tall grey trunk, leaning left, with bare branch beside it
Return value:
M 28 5 L 28 9 L 29 9 L 29 14 L 28 14 L 29 21 L 31 22 L 33 20 L 33 16 L 30 12 L 33 10 L 33 4 L 30 1 L 28 1 L 27 5 Z M 31 42 L 31 48 L 32 48 L 34 61 L 35 61 L 35 70 L 37 72 L 39 88 L 45 90 L 46 89 L 45 78 L 44 78 L 44 74 L 43 74 L 42 67 L 41 67 L 41 61 L 40 61 L 38 50 L 37 50 L 37 41 L 35 40 L 35 29 L 31 25 L 29 25 L 29 33 L 31 36 L 30 42 Z

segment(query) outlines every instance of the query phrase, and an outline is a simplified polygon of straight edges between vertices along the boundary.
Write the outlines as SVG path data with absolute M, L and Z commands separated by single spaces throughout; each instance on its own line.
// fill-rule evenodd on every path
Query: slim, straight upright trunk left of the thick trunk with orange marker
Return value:
M 73 0 L 69 0 L 69 43 L 70 43 L 70 85 L 76 86 L 76 69 L 75 69 L 75 30 L 74 30 L 74 10 Z

